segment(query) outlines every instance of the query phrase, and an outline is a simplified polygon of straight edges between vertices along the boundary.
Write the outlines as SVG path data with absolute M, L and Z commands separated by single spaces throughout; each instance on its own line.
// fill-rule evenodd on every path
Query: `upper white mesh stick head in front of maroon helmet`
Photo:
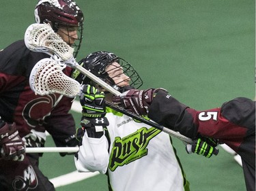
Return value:
M 57 54 L 63 61 L 73 58 L 74 48 L 66 44 L 50 24 L 31 24 L 25 32 L 24 41 L 27 48 L 33 52 Z

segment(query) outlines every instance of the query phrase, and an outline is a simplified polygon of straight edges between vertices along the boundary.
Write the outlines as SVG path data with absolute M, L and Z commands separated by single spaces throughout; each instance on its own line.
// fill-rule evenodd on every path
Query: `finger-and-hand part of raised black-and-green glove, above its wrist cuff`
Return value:
M 104 92 L 100 92 L 94 86 L 83 86 L 83 93 L 80 96 L 80 103 L 83 107 L 83 117 L 102 118 L 106 114 Z

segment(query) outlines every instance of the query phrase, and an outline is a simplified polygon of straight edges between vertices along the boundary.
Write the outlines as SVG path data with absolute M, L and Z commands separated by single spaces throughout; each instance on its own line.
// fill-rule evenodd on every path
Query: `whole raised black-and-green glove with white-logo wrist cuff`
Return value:
M 81 126 L 88 137 L 102 137 L 104 126 L 109 125 L 109 121 L 105 117 L 106 104 L 104 98 L 104 92 L 100 92 L 94 86 L 85 85 L 83 87 L 83 94 L 80 97 L 80 103 L 83 107 Z

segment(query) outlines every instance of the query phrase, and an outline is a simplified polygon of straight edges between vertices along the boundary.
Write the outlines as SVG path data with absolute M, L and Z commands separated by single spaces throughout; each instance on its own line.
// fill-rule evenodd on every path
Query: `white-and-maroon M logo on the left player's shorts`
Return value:
M 15 191 L 27 191 L 29 189 L 35 189 L 36 186 L 38 186 L 38 178 L 30 165 L 23 171 L 23 177 L 16 176 L 14 181 L 12 181 L 12 188 Z

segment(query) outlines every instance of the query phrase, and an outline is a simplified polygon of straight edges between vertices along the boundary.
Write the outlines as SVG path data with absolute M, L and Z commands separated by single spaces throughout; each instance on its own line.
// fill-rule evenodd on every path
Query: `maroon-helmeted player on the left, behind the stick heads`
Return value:
M 55 33 L 74 48 L 74 57 L 77 55 L 83 12 L 73 0 L 38 1 L 35 20 L 51 24 Z M 48 57 L 45 53 L 31 52 L 24 40 L 0 52 L 0 190 L 55 190 L 38 169 L 42 155 L 25 154 L 25 147 L 43 147 L 46 131 L 59 147 L 79 143 L 74 119 L 68 114 L 72 99 L 60 94 L 35 95 L 29 87 L 31 69 Z M 71 71 L 70 67 L 63 70 L 66 75 Z

